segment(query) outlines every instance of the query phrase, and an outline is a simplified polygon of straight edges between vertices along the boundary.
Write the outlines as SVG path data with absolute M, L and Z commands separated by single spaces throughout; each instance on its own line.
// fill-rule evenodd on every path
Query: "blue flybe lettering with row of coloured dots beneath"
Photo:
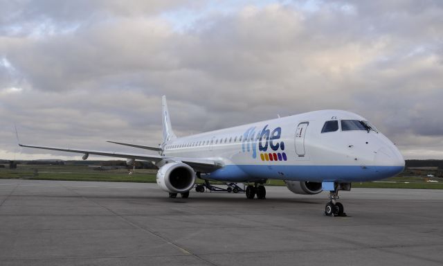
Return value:
M 284 150 L 284 142 L 280 141 L 282 128 L 275 127 L 270 130 L 269 125 L 265 125 L 262 130 L 256 131 L 256 127 L 249 127 L 243 134 L 242 150 L 243 152 L 252 152 L 252 157 L 257 158 L 260 152 L 262 161 L 286 161 L 287 157 L 284 152 L 282 154 L 275 153 L 278 150 Z M 268 153 L 271 152 L 271 153 Z

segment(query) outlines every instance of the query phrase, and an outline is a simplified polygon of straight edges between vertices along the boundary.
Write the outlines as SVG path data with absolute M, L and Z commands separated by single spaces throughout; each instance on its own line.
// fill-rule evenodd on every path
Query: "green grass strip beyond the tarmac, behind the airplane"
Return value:
M 6 166 L 7 167 L 7 166 Z M 127 169 L 93 170 L 88 166 L 33 166 L 18 165 L 17 169 L 0 168 L 1 179 L 39 179 L 71 181 L 114 181 L 154 183 L 156 170 L 136 169 L 129 175 Z M 443 178 L 433 177 L 438 182 L 428 182 L 424 176 L 399 175 L 377 182 L 352 183 L 354 188 L 428 188 L 443 189 Z M 198 181 L 201 183 L 201 180 Z M 217 183 L 214 183 L 217 184 Z M 284 181 L 269 180 L 268 186 L 284 186 Z

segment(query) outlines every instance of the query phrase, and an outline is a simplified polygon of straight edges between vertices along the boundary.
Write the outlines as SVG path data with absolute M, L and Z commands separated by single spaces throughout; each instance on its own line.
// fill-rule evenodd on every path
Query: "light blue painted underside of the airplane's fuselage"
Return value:
M 219 181 L 281 179 L 293 181 L 374 181 L 395 176 L 404 166 L 262 166 L 228 165 L 208 174 Z

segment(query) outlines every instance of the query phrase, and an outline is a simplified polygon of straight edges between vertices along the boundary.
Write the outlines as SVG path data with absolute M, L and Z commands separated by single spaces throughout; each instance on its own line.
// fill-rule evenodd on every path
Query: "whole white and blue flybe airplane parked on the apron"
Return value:
M 329 191 L 325 206 L 329 216 L 345 215 L 343 204 L 337 202 L 338 191 L 351 190 L 352 182 L 386 179 L 404 170 L 404 158 L 395 144 L 352 112 L 320 110 L 179 138 L 172 130 L 165 96 L 162 107 L 159 147 L 109 141 L 159 155 L 19 145 L 77 152 L 84 154 L 84 160 L 94 154 L 126 158 L 129 164 L 152 161 L 159 168 L 157 184 L 172 198 L 179 193 L 188 198 L 199 178 L 247 183 L 246 198 L 265 199 L 266 181 L 280 179 L 296 194 Z

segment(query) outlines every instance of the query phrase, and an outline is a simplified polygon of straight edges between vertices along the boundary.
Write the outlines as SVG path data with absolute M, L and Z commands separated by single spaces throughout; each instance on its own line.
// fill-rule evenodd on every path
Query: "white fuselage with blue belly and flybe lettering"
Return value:
M 322 132 L 327 121 L 338 128 Z M 173 139 L 163 143 L 163 154 L 217 161 L 224 167 L 207 177 L 223 181 L 370 181 L 404 169 L 386 136 L 346 130 L 342 121 L 366 119 L 341 110 L 309 112 Z

